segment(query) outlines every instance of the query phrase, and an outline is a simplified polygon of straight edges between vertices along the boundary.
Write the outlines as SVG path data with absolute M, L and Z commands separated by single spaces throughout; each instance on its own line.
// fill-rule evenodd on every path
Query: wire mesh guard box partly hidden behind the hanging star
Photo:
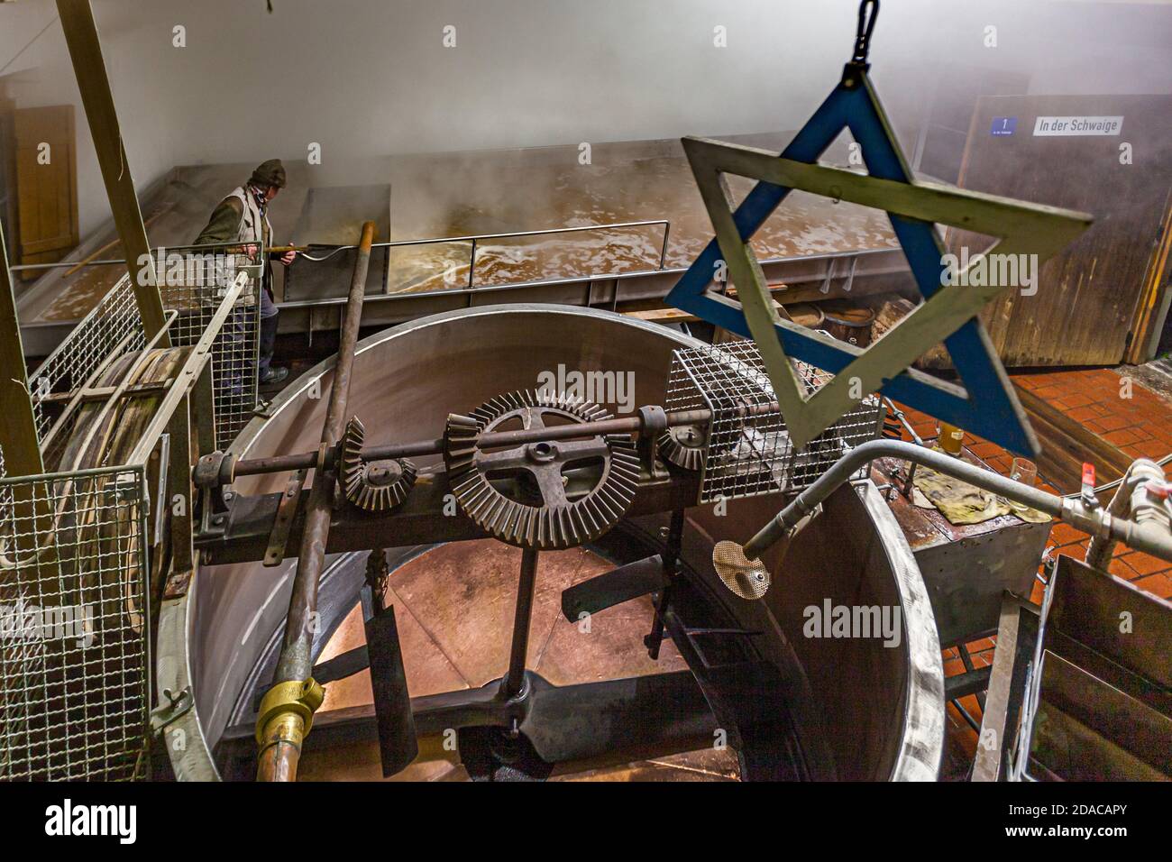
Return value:
M 805 362 L 793 366 L 809 392 L 833 378 Z M 665 401 L 669 412 L 713 414 L 700 503 L 798 491 L 844 453 L 878 439 L 883 427 L 883 403 L 867 395 L 808 447 L 795 449 L 761 352 L 748 340 L 675 351 Z

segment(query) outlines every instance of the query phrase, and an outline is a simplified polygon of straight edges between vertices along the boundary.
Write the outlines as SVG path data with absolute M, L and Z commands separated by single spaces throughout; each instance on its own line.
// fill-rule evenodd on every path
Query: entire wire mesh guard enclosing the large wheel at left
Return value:
M 42 440 L 59 455 L 47 462 L 60 466 L 6 476 L 0 453 L 0 780 L 148 774 L 150 598 L 162 595 L 166 561 L 183 557 L 179 542 L 190 557 L 190 518 L 171 517 L 173 501 L 192 505 L 190 456 L 226 433 L 200 428 L 206 447 L 192 452 L 192 403 L 211 402 L 217 357 L 222 384 L 224 368 L 254 358 L 254 347 L 224 347 L 225 325 L 255 311 L 243 300 L 250 281 L 238 270 L 171 273 L 171 308 L 150 339 L 139 325 L 89 318 L 63 347 L 84 344 L 94 355 L 48 362 L 57 385 L 71 387 L 41 399 L 70 408 Z M 188 535 L 176 535 L 184 523 Z

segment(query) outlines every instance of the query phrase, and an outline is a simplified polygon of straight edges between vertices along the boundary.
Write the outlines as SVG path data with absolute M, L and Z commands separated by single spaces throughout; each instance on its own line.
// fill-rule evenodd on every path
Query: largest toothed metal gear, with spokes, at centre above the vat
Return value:
M 448 482 L 461 509 L 493 537 L 520 548 L 561 550 L 598 538 L 624 516 L 639 487 L 639 454 L 621 434 L 551 440 L 481 452 L 482 434 L 510 420 L 544 428 L 547 418 L 588 425 L 609 414 L 598 405 L 531 391 L 498 395 L 468 416 L 451 414 L 444 432 Z M 571 501 L 564 468 L 598 468 L 592 490 Z M 497 486 L 516 480 L 512 496 Z M 526 483 L 533 487 L 526 494 Z M 529 500 L 526 500 L 526 496 Z M 518 498 L 519 497 L 519 498 Z

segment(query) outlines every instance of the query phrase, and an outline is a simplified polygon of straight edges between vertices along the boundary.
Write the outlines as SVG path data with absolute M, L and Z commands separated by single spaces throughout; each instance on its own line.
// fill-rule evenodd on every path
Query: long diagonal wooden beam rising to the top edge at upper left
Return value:
M 105 61 L 102 59 L 102 45 L 97 38 L 94 9 L 89 0 L 57 0 L 57 12 L 61 13 L 61 28 L 69 46 L 77 88 L 81 90 L 86 118 L 89 121 L 90 135 L 94 138 L 94 149 L 97 150 L 97 163 L 105 182 L 105 194 L 110 198 L 114 224 L 122 240 L 122 250 L 125 252 L 127 270 L 135 289 L 138 312 L 142 314 L 146 338 L 150 339 L 163 328 L 163 299 L 155 280 L 155 263 L 146 242 L 146 229 L 143 226 L 142 211 L 138 209 L 138 197 L 135 195 L 127 150 L 122 145 L 122 131 L 118 128 L 118 115 L 114 107 L 114 95 L 110 93 Z M 142 260 L 146 262 L 145 266 L 138 265 Z M 159 344 L 169 347 L 170 340 L 164 334 Z

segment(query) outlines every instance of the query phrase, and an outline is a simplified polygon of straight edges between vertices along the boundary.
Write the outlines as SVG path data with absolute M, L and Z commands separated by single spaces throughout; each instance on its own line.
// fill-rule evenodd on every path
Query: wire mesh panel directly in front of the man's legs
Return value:
M 264 252 L 258 259 L 264 260 Z M 199 246 L 168 249 L 156 269 L 163 306 L 179 314 L 171 324 L 171 344 L 177 347 L 198 341 L 233 279 L 240 272 L 250 277 L 211 351 L 216 448 L 227 449 L 257 407 L 263 269 L 246 254 L 207 252 Z

